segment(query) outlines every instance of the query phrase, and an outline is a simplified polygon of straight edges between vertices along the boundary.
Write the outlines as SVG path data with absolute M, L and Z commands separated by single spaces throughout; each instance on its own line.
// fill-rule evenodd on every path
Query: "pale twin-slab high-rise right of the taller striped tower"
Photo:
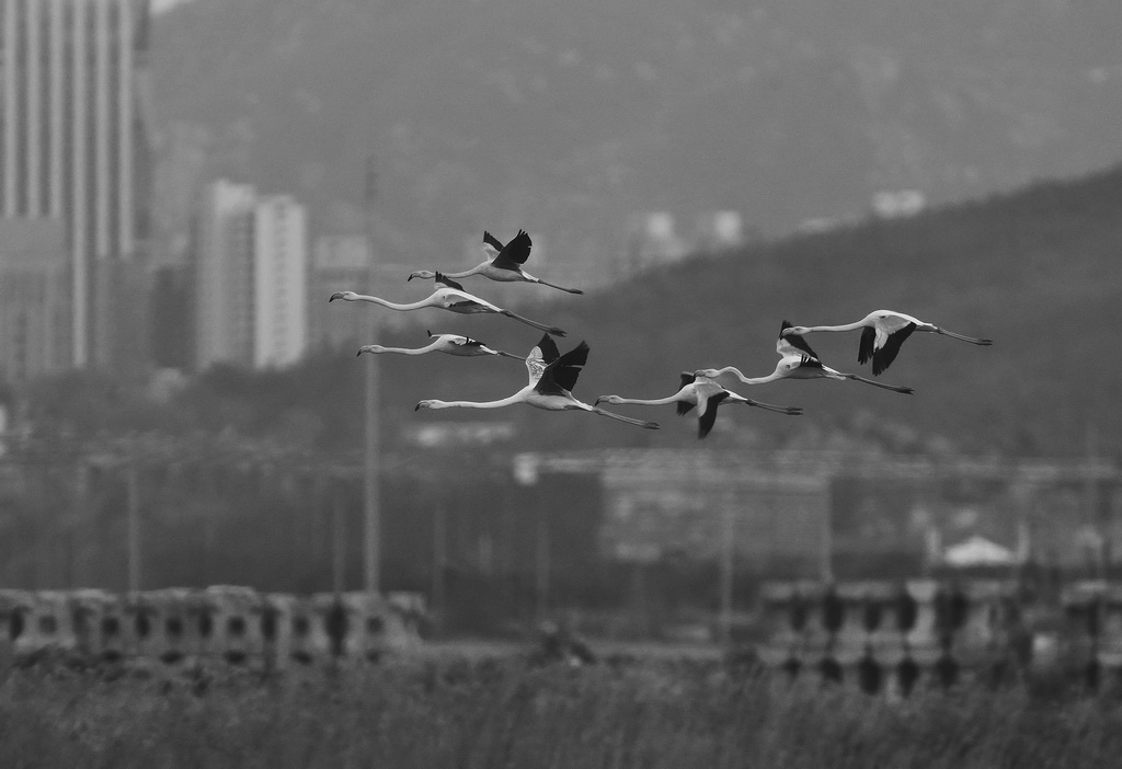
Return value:
M 226 179 L 195 223 L 195 365 L 296 362 L 307 345 L 307 214 L 287 195 Z

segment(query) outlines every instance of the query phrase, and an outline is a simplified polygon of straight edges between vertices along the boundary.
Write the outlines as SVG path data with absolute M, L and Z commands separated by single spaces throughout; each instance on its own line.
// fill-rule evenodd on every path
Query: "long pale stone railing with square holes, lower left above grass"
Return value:
M 417 642 L 423 613 L 414 594 L 304 596 L 233 585 L 131 594 L 0 590 L 0 656 L 7 651 L 17 665 L 376 661 Z

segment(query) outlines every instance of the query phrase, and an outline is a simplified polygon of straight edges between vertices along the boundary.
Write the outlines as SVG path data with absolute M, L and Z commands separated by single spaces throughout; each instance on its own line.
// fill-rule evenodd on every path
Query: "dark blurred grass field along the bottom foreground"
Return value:
M 711 659 L 118 673 L 3 674 L 0 765 L 1086 769 L 1122 757 L 1114 696 L 966 687 L 892 699 Z

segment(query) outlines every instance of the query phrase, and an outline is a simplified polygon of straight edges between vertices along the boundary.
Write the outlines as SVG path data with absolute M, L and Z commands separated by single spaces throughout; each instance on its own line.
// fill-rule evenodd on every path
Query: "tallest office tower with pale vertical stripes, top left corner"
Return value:
M 0 0 L 0 213 L 63 223 L 74 365 L 142 356 L 147 0 Z

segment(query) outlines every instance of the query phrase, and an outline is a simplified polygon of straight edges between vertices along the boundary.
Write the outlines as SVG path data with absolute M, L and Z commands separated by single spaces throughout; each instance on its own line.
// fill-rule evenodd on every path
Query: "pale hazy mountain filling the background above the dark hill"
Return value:
M 545 277 L 626 216 L 735 209 L 765 233 L 1118 156 L 1113 0 L 194 0 L 156 17 L 160 221 L 214 174 L 360 225 L 389 261 L 535 234 Z

